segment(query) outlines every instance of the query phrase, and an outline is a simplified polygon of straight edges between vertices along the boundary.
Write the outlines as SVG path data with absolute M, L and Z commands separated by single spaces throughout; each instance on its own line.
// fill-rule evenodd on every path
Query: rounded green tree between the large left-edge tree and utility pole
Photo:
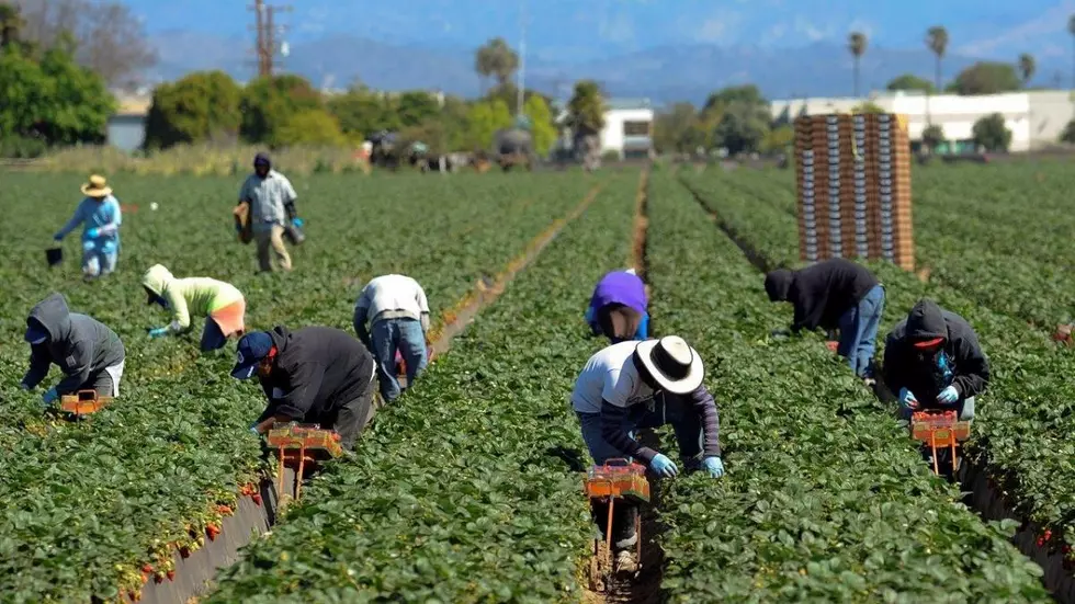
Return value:
M 242 89 L 223 71 L 199 71 L 158 86 L 146 116 L 145 147 L 236 139 L 241 99 Z

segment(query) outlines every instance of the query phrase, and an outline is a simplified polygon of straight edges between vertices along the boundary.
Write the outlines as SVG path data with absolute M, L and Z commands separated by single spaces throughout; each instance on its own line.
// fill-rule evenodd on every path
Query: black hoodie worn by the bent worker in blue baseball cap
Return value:
M 276 360 L 269 377 L 260 378 L 269 408 L 259 421 L 278 415 L 319 423 L 373 387 L 373 355 L 347 332 L 278 326 L 268 333 Z

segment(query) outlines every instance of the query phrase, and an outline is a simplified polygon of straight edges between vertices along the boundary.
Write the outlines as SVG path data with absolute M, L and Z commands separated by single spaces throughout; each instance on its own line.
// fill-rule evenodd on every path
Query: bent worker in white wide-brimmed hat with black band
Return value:
M 720 418 L 713 396 L 702 384 L 704 375 L 698 352 L 677 335 L 620 342 L 598 351 L 582 366 L 572 392 L 572 407 L 593 461 L 633 457 L 658 476 L 676 476 L 679 468 L 671 459 L 632 435 L 640 428 L 670 423 L 684 467 L 705 469 L 713 478 L 723 476 Z M 613 518 L 619 549 L 637 540 L 637 510 L 622 508 L 627 511 Z M 622 508 L 614 508 L 613 514 Z M 602 517 L 599 510 L 595 513 Z

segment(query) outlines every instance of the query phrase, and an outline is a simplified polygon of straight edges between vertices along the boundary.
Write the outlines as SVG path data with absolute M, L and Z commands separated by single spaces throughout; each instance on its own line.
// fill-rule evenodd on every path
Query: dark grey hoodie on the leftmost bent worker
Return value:
M 41 384 L 55 363 L 67 376 L 56 385 L 56 392 L 77 391 L 90 377 L 105 367 L 123 362 L 123 342 L 104 323 L 71 312 L 60 294 L 52 294 L 30 311 L 26 324 L 43 328 L 48 339 L 31 344 L 30 371 L 22 378 L 27 388 Z

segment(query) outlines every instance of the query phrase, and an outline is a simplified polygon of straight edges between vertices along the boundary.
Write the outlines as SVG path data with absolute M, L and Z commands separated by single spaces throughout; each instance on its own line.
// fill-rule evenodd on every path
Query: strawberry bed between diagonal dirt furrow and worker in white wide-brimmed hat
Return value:
M 208 602 L 577 600 L 592 527 L 567 398 L 600 346 L 580 312 L 630 252 L 635 184 L 608 183 Z

